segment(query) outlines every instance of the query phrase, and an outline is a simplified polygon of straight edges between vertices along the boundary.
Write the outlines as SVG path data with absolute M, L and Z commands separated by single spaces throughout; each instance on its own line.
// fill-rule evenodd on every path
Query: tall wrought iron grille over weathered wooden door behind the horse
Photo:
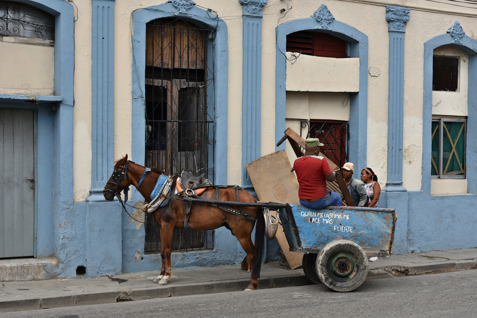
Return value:
M 182 19 L 146 24 L 145 165 L 182 169 L 213 180 L 214 31 Z M 160 253 L 160 236 L 146 216 L 145 253 Z M 175 229 L 173 251 L 214 248 L 214 231 Z

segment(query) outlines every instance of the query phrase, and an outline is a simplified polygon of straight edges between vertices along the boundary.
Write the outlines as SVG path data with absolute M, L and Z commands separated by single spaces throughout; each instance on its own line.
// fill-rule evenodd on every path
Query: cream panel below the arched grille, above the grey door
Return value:
M 0 94 L 53 95 L 53 47 L 0 42 Z

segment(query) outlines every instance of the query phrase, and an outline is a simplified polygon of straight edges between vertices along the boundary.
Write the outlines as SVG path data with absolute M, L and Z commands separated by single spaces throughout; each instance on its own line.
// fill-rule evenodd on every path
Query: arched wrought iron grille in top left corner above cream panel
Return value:
M 54 39 L 52 15 L 19 2 L 0 1 L 0 35 Z

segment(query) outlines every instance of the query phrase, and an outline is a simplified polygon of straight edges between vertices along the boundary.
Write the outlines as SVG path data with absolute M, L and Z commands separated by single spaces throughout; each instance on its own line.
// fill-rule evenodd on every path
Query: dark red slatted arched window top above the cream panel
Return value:
M 343 58 L 349 57 L 347 43 L 322 32 L 300 31 L 287 35 L 287 52 Z

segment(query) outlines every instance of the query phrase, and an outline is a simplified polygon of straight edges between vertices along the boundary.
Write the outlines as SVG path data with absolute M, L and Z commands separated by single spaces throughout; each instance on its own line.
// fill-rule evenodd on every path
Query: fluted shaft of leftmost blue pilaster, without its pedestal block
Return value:
M 91 40 L 91 190 L 104 201 L 114 162 L 114 0 L 93 0 Z

